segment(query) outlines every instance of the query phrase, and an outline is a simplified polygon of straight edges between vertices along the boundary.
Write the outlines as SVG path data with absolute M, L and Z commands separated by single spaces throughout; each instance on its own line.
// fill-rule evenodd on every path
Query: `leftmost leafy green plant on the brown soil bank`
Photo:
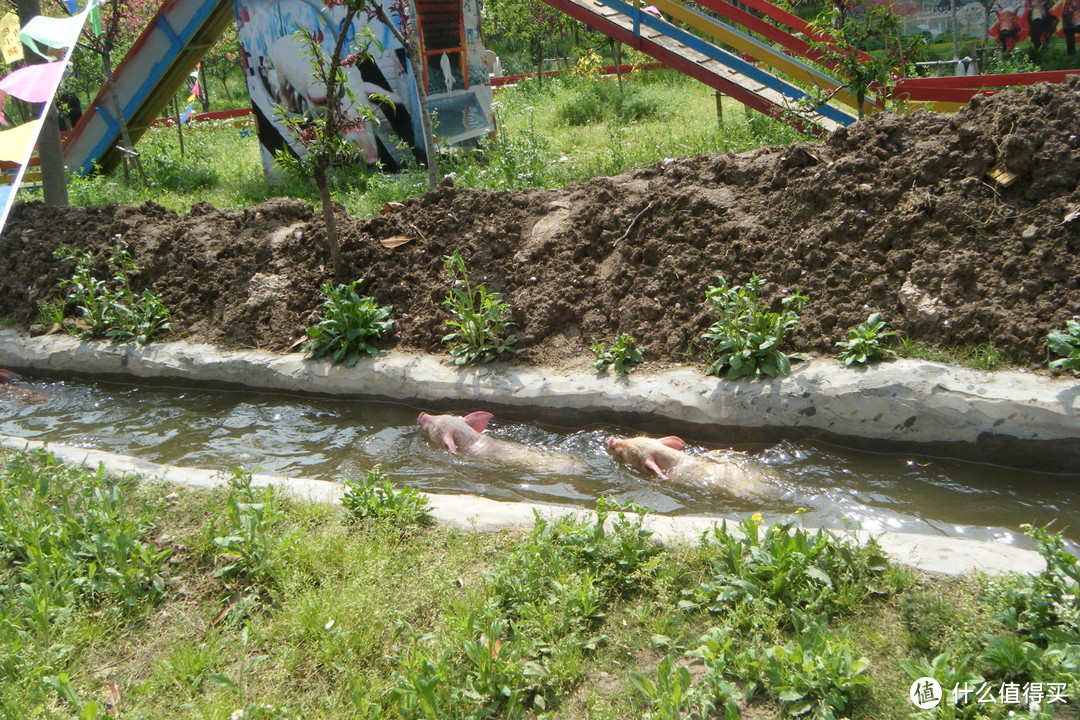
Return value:
M 60 279 L 58 285 L 81 315 L 76 327 L 83 337 L 145 345 L 171 329 L 168 308 L 161 297 L 150 290 L 136 296 L 132 290 L 130 275 L 138 266 L 122 240 L 117 240 L 108 258 L 109 281 L 95 276 L 94 256 L 86 250 L 60 245 L 55 257 L 75 260 L 71 277 Z

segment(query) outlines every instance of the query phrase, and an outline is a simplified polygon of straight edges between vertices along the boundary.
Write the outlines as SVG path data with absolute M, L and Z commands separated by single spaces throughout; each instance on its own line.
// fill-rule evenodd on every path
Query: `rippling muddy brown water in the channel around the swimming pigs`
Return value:
M 497 500 L 589 505 L 604 494 L 665 514 L 789 517 L 807 510 L 808 526 L 861 527 L 999 540 L 1027 545 L 1024 522 L 1066 529 L 1080 540 L 1080 483 L 915 454 L 855 451 L 808 439 L 740 445 L 768 465 L 781 499 L 747 503 L 715 489 L 679 487 L 616 464 L 611 434 L 633 427 L 584 427 L 492 421 L 496 437 L 575 456 L 573 476 L 462 460 L 427 441 L 419 410 L 404 404 L 104 382 L 31 381 L 44 402 L 0 395 L 0 434 L 131 454 L 160 463 L 323 479 L 359 476 L 381 464 L 391 477 L 432 492 Z M 460 411 L 481 409 L 461 407 Z M 715 449 L 714 444 L 691 450 Z

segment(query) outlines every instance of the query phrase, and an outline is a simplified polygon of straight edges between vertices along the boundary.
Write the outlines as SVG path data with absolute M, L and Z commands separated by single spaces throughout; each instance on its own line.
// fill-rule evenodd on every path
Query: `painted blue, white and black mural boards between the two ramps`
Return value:
M 470 142 L 494 128 L 491 86 L 480 43 L 475 0 L 455 2 L 461 4 L 455 5 L 458 12 L 448 28 L 443 19 L 438 25 L 426 23 L 424 4 L 418 3 L 428 101 L 435 135 L 440 142 L 449 145 Z M 351 27 L 342 27 L 345 10 L 328 9 L 319 0 L 235 0 L 233 10 L 268 175 L 276 174 L 273 159 L 278 152 L 286 148 L 303 152 L 274 109 L 280 107 L 294 117 L 315 117 L 326 101 L 326 89 L 312 79 L 305 44 L 294 35 L 299 28 L 311 30 L 327 56 L 339 32 L 346 33 L 347 54 L 366 49 L 360 62 L 342 68 L 357 103 L 365 104 L 377 118 L 377 122 L 362 123 L 348 135 L 356 146 L 357 162 L 387 172 L 401 169 L 409 155 L 424 162 L 418 78 L 389 28 L 363 14 Z M 440 17 L 445 17 L 445 12 Z M 428 42 L 429 37 L 433 42 Z M 357 110 L 355 114 L 364 113 Z

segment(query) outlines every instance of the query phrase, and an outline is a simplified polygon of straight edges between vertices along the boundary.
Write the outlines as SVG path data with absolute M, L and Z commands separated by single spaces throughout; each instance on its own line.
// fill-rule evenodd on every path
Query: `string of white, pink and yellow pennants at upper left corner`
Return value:
M 54 58 L 51 55 L 45 54 L 48 51 L 43 52 L 41 47 L 52 47 L 56 51 L 62 49 L 67 50 L 63 53 L 62 59 L 57 63 L 46 64 L 55 65 L 55 67 L 48 68 L 42 71 L 49 74 L 50 82 L 46 86 L 41 89 L 44 97 L 42 100 L 41 116 L 37 120 L 31 120 L 30 122 L 18 125 L 17 127 L 0 131 L 0 160 L 10 160 L 11 162 L 19 164 L 18 171 L 15 173 L 15 177 L 11 182 L 11 187 L 5 189 L 3 192 L 0 192 L 0 231 L 3 230 L 3 226 L 8 221 L 8 214 L 11 212 L 11 204 L 15 200 L 15 192 L 18 190 L 18 186 L 23 181 L 23 175 L 26 173 L 26 168 L 30 163 L 30 157 L 33 154 L 33 147 L 38 144 L 38 135 L 41 132 L 42 120 L 49 114 L 49 111 L 52 109 L 53 101 L 56 98 L 56 91 L 59 89 L 60 80 L 64 74 L 64 68 L 66 68 L 68 63 L 71 62 L 71 53 L 75 51 L 76 41 L 78 41 L 79 35 L 82 32 L 82 27 L 86 23 L 87 15 L 90 15 L 92 11 L 97 10 L 97 3 L 98 0 L 89 0 L 83 11 L 71 17 L 57 19 L 38 15 L 37 17 L 31 18 L 30 22 L 28 22 L 23 28 L 22 32 L 18 33 L 19 39 L 22 39 L 28 47 L 31 47 L 39 55 L 48 57 L 49 59 Z M 21 71 L 22 70 L 18 70 L 16 72 Z M 4 80 L 9 80 L 11 76 L 8 76 Z M 37 92 L 37 89 L 31 91 L 23 89 L 21 92 Z

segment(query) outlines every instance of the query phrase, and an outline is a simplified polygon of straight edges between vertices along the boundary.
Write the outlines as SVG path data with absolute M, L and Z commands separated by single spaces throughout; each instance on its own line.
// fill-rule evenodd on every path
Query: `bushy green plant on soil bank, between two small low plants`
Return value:
M 765 281 L 756 274 L 745 285 L 728 285 L 723 275 L 705 290 L 705 300 L 719 315 L 702 338 L 711 343 L 713 364 L 706 375 L 727 378 L 743 376 L 775 378 L 792 371 L 791 359 L 779 345 L 799 325 L 798 312 L 807 302 L 801 291 L 784 298 L 780 312 L 770 312 L 759 299 Z

